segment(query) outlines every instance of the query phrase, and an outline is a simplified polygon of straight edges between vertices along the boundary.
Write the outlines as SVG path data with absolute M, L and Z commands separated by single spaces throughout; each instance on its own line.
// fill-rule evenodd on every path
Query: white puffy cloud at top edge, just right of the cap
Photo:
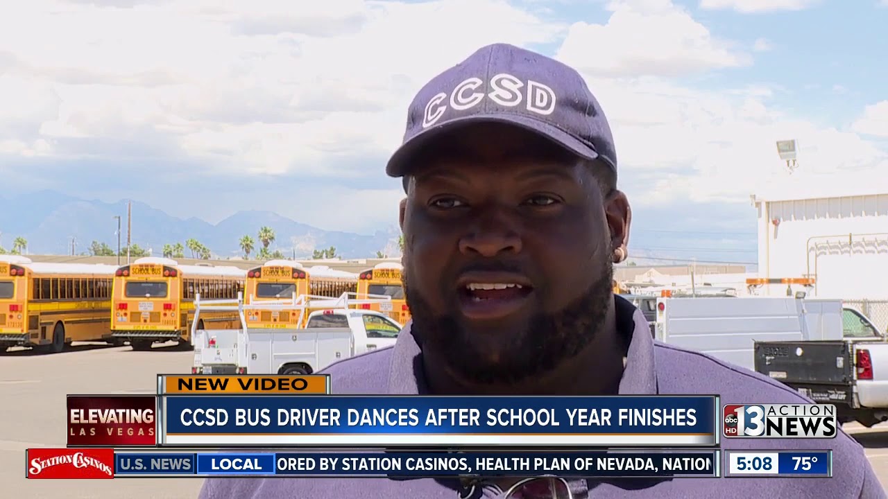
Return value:
M 607 76 L 676 76 L 751 63 L 669 0 L 618 0 L 608 9 L 605 25 L 570 27 L 559 59 Z

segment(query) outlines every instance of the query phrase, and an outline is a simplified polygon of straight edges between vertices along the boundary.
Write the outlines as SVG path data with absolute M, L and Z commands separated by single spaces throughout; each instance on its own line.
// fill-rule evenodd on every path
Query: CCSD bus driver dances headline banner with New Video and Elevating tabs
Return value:
M 718 396 L 332 395 L 329 376 L 158 376 L 68 395 L 69 448 L 715 447 Z M 717 424 L 718 417 L 718 424 Z

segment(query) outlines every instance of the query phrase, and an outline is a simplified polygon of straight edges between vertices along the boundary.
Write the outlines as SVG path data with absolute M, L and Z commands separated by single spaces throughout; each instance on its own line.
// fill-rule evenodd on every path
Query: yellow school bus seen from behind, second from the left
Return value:
M 246 271 L 234 266 L 178 265 L 170 258 L 139 258 L 115 271 L 111 336 L 130 341 L 133 350 L 155 342 L 191 339 L 194 296 L 236 300 Z M 234 305 L 234 304 L 233 304 Z M 237 312 L 201 313 L 198 329 L 239 329 Z

